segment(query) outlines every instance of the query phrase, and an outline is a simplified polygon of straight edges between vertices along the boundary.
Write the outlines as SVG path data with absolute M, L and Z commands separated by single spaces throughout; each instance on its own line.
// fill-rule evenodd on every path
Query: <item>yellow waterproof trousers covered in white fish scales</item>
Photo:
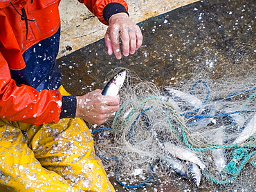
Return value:
M 0 119 L 0 191 L 114 189 L 82 119 L 40 126 Z

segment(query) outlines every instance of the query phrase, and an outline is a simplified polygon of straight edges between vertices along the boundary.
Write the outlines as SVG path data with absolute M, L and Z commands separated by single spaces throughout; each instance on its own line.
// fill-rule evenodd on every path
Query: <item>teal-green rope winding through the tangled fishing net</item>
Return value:
M 256 93 L 253 93 L 253 95 L 251 95 L 248 99 L 252 99 L 253 97 L 255 97 L 255 94 Z M 149 102 L 152 100 L 163 102 L 163 100 L 160 97 L 156 97 L 156 96 L 145 96 L 145 97 L 140 97 L 140 99 L 142 99 L 140 104 L 138 104 L 138 106 L 131 109 L 131 111 L 129 112 L 127 117 L 125 117 L 120 127 L 125 126 L 125 124 L 129 122 L 129 120 L 134 115 L 134 113 L 136 113 L 136 111 L 138 111 L 140 107 L 143 106 L 146 102 Z M 122 104 L 119 111 L 116 113 L 116 116 L 113 120 L 113 124 L 111 128 L 114 128 L 114 129 L 118 128 L 118 119 L 120 117 L 120 113 L 125 108 L 125 106 L 128 106 L 129 104 L 131 104 L 131 102 L 127 104 Z M 180 140 L 180 142 L 183 142 L 185 146 L 190 148 L 192 151 L 203 152 L 203 151 L 210 151 L 215 149 L 235 148 L 235 150 L 232 152 L 232 160 L 230 160 L 230 162 L 224 167 L 221 173 L 223 176 L 225 176 L 222 180 L 218 180 L 212 177 L 207 171 L 204 171 L 206 177 L 208 177 L 208 179 L 211 180 L 212 182 L 215 182 L 217 184 L 227 184 L 232 180 L 235 180 L 235 178 L 239 175 L 241 170 L 244 168 L 245 164 L 249 161 L 250 157 L 253 157 L 253 155 L 256 154 L 256 151 L 248 153 L 248 150 L 247 150 L 247 148 L 256 148 L 256 144 L 239 144 L 239 145 L 238 144 L 225 144 L 225 145 L 210 144 L 209 146 L 203 146 L 200 148 L 192 146 L 192 144 L 190 144 L 188 140 L 188 135 L 187 135 L 189 133 L 188 128 L 185 126 L 185 124 L 183 124 L 181 117 L 178 114 L 174 113 L 174 108 L 172 108 L 171 106 L 167 106 L 166 104 L 163 104 L 163 106 L 165 106 L 164 107 L 165 109 L 168 109 L 171 111 L 174 119 L 176 119 L 176 121 L 178 122 L 178 127 L 174 127 L 170 117 L 167 117 L 167 114 L 165 113 L 167 117 L 167 124 L 170 127 L 170 129 L 172 129 L 173 134 L 176 136 L 176 138 L 178 138 L 178 140 Z M 255 137 L 255 135 L 253 135 L 252 137 Z M 249 141 L 252 142 L 252 140 L 249 140 Z M 239 162 L 241 163 L 239 164 Z M 251 164 L 256 166 L 256 162 L 251 162 Z

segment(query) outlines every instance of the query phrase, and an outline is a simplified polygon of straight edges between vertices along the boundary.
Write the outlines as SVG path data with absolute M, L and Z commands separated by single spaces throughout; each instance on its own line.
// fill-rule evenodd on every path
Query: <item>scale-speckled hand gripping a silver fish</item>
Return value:
M 93 90 L 77 98 L 76 117 L 91 124 L 103 124 L 119 109 L 120 97 L 104 96 L 102 90 Z

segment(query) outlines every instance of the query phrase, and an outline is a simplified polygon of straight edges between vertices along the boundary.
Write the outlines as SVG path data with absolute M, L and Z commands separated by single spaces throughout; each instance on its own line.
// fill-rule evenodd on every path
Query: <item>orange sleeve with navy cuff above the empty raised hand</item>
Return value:
M 124 0 L 78 0 L 100 20 L 108 25 L 109 18 L 118 12 L 127 12 L 128 6 Z

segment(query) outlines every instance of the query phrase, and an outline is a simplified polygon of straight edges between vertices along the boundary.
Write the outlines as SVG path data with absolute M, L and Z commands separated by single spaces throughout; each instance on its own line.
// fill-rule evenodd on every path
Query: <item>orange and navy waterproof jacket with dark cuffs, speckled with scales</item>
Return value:
M 102 23 L 127 12 L 123 0 L 80 0 Z M 75 97 L 62 97 L 56 56 L 60 0 L 0 1 L 0 118 L 28 124 L 75 117 Z

